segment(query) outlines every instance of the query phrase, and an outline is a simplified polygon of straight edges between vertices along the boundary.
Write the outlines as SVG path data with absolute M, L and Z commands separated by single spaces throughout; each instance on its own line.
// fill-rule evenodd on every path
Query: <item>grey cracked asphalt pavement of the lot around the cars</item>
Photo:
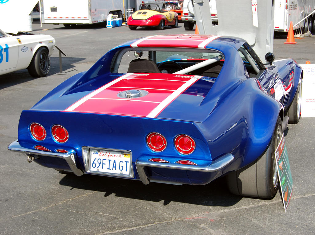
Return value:
M 129 39 L 193 33 L 176 29 L 135 31 L 122 26 L 33 24 L 33 33 L 49 34 L 67 55 L 59 68 L 58 52 L 44 78 L 27 70 L 0 76 L 0 234 L 314 234 L 315 118 L 301 118 L 285 131 L 294 182 L 284 211 L 280 193 L 262 200 L 230 194 L 224 178 L 204 186 L 169 185 L 94 175 L 77 177 L 28 163 L 7 146 L 17 138 L 20 113 L 55 86 L 89 69 L 109 49 Z M 315 63 L 315 38 L 284 44 L 274 39 L 276 59 Z

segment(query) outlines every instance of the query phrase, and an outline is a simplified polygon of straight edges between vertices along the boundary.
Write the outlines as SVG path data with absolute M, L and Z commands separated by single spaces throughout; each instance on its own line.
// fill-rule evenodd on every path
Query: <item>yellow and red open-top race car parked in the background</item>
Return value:
M 172 28 L 178 26 L 178 14 L 173 11 L 161 10 L 157 4 L 140 5 L 140 10 L 129 16 L 127 24 L 130 30 L 137 27 L 155 26 L 157 30 L 163 30 L 164 26 Z

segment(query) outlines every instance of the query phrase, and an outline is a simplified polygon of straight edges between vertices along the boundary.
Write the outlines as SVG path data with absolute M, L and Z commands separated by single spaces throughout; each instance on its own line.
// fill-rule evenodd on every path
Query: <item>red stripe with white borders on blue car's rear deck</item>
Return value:
M 135 117 L 156 117 L 200 76 L 175 74 L 125 74 L 83 97 L 66 112 L 102 113 Z M 146 96 L 127 99 L 127 90 L 146 90 Z

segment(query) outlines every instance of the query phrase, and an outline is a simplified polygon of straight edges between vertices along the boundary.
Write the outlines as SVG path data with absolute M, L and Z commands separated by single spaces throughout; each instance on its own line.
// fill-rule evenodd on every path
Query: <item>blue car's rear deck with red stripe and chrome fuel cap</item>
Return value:
M 214 84 L 214 78 L 135 73 L 112 74 L 106 78 L 110 78 L 106 84 L 104 81 L 100 84 L 100 80 L 82 84 L 80 79 L 70 83 L 70 79 L 32 109 L 194 122 L 202 122 L 211 112 L 201 103 Z

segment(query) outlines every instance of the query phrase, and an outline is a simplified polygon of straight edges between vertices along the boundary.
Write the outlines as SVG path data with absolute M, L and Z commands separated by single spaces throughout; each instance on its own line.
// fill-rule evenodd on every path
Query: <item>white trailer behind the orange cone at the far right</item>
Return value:
M 303 28 L 307 32 L 308 23 L 309 31 L 315 33 L 315 0 L 275 0 L 274 9 L 275 31 L 288 32 L 292 21 L 294 30 Z M 307 20 L 301 21 L 309 14 Z

